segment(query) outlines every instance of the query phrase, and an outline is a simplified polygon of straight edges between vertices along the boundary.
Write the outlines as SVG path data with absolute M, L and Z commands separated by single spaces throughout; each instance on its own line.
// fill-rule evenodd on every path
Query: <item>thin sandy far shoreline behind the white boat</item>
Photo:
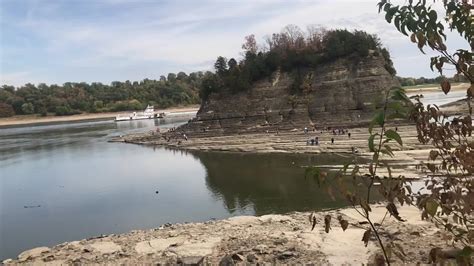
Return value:
M 197 112 L 199 110 L 198 105 L 184 106 L 184 107 L 172 107 L 168 109 L 156 110 L 156 112 Z M 48 124 L 48 123 L 63 123 L 63 122 L 79 122 L 88 120 L 106 120 L 114 119 L 118 114 L 124 114 L 127 112 L 111 112 L 111 113 L 85 113 L 70 116 L 46 116 L 41 117 L 37 115 L 21 115 L 7 118 L 0 118 L 0 127 L 4 126 L 19 126 L 19 125 L 34 125 L 34 124 Z

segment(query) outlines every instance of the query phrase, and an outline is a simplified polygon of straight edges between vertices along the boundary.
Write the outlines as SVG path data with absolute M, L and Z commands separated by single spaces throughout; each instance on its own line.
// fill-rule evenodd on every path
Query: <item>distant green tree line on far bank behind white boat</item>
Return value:
M 60 85 L 26 84 L 0 87 L 0 117 L 23 114 L 46 116 L 82 112 L 141 110 L 147 104 L 160 108 L 197 104 L 202 72 L 187 75 L 170 73 L 159 80 L 114 81 L 110 85 L 94 82 L 67 82 Z

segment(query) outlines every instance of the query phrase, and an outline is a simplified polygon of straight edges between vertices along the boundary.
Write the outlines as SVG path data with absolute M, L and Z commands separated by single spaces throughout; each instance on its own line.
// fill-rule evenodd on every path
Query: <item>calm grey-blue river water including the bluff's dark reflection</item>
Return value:
M 100 234 L 342 207 L 301 166 L 335 155 L 183 152 L 107 142 L 189 117 L 0 129 L 0 259 Z M 158 192 L 158 193 L 157 193 Z

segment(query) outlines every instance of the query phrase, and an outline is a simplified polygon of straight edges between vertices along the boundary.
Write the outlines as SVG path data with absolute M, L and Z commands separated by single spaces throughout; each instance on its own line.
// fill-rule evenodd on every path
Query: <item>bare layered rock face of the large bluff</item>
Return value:
M 294 75 L 276 72 L 248 91 L 211 95 L 197 117 L 180 129 L 193 135 L 227 135 L 364 124 L 386 90 L 399 86 L 384 64 L 383 57 L 370 55 L 306 69 L 298 93 L 290 89 Z

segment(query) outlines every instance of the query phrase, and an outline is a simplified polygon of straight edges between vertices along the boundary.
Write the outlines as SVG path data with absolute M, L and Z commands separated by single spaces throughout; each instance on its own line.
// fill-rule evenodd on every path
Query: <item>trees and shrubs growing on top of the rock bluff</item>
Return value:
M 217 58 L 215 73 L 204 75 L 200 90 L 202 99 L 207 99 L 211 93 L 245 91 L 252 82 L 270 77 L 277 69 L 294 75 L 294 84 L 290 89 L 298 92 L 305 69 L 341 57 L 360 60 L 369 56 L 371 51 L 374 56 L 383 56 L 387 71 L 391 75 L 396 74 L 388 50 L 381 46 L 376 35 L 364 31 L 308 27 L 307 32 L 303 32 L 295 25 L 288 25 L 280 33 L 267 37 L 260 47 L 255 36 L 249 35 L 242 48 L 244 58 L 240 62 L 234 58 Z

